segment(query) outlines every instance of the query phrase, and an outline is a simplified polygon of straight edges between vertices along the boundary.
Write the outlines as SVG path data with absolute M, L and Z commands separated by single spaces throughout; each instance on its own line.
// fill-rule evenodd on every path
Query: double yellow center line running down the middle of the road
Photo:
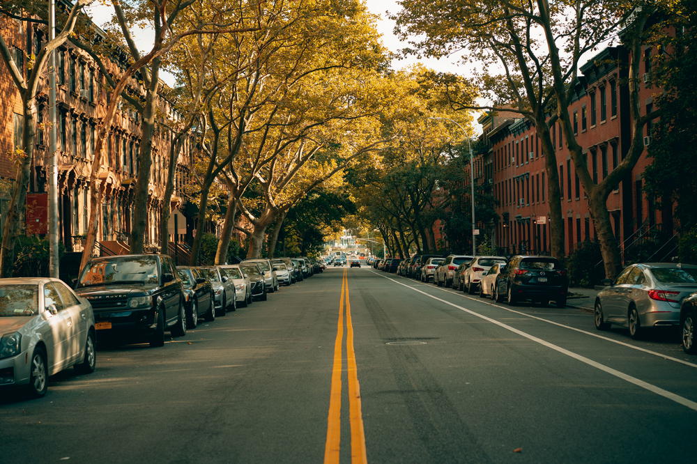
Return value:
M 358 368 L 353 350 L 353 323 L 351 323 L 351 302 L 348 298 L 348 276 L 346 269 L 342 275 L 342 295 L 339 300 L 339 320 L 337 338 L 334 342 L 334 364 L 332 366 L 332 387 L 329 396 L 329 415 L 327 418 L 327 441 L 324 446 L 325 464 L 338 464 L 341 451 L 342 426 L 342 373 L 344 369 L 344 314 L 346 315 L 346 367 L 348 373 L 348 419 L 351 424 L 351 463 L 367 463 L 365 454 L 365 432 L 360 408 L 360 385 Z

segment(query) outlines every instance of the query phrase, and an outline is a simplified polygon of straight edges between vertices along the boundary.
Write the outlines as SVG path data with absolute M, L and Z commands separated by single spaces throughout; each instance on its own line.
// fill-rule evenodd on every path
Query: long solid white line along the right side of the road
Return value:
M 371 272 L 373 272 L 373 271 L 371 271 Z M 673 392 L 668 392 L 668 390 L 666 390 L 666 389 L 662 389 L 661 387 L 657 387 L 656 385 L 653 385 L 651 383 L 644 382 L 643 380 L 638 379 L 636 377 L 629 376 L 628 374 L 620 372 L 620 371 L 613 369 L 611 367 L 608 367 L 605 364 L 600 364 L 599 362 L 595 362 L 588 357 L 585 357 L 583 355 L 579 355 L 577 353 L 574 353 L 573 351 L 569 351 L 565 348 L 562 348 L 558 345 L 555 345 L 554 343 L 549 343 L 549 341 L 539 339 L 539 338 L 535 337 L 534 335 L 530 335 L 527 332 L 523 332 L 522 330 L 518 330 L 515 327 L 511 327 L 510 325 L 504 324 L 496 319 L 492 319 L 492 318 L 489 318 L 489 317 L 484 316 L 482 314 L 475 313 L 475 311 L 471 311 L 470 309 L 461 307 L 458 304 L 454 304 L 454 303 L 449 302 L 447 300 L 443 300 L 442 298 L 438 298 L 434 295 L 429 295 L 429 293 L 426 293 L 424 291 L 420 291 L 418 288 L 414 288 L 412 286 L 402 284 L 401 282 L 396 281 L 395 279 L 390 279 L 390 277 L 385 277 L 383 275 L 378 274 L 377 272 L 373 272 L 373 273 L 380 276 L 380 277 L 384 277 L 385 279 L 393 281 L 393 282 L 395 282 L 395 284 L 405 286 L 406 288 L 410 288 L 411 290 L 413 290 L 415 292 L 421 293 L 422 295 L 425 295 L 429 298 L 433 298 L 434 300 L 437 300 L 443 304 L 447 304 L 448 306 L 452 306 L 454 308 L 457 308 L 460 311 L 464 311 L 467 314 L 471 314 L 472 316 L 476 316 L 477 318 L 484 319 L 489 323 L 498 325 L 499 327 L 502 327 L 505 330 L 509 330 L 510 332 L 513 332 L 514 334 L 518 334 L 521 337 L 524 337 L 528 340 L 534 341 L 535 343 L 539 343 L 542 346 L 546 346 L 547 348 L 550 348 L 551 350 L 555 350 L 558 353 L 562 353 L 562 355 L 567 355 L 568 357 L 572 357 L 572 358 L 576 359 L 577 361 L 583 362 L 584 364 L 588 364 L 588 366 L 595 367 L 595 369 L 606 372 L 606 373 L 610 374 L 611 376 L 615 376 L 617 378 L 625 380 L 625 382 L 629 382 L 633 385 L 636 385 L 637 387 L 641 387 L 643 389 L 646 389 L 649 392 L 652 392 L 652 393 L 657 394 L 659 396 L 663 396 L 664 398 L 669 399 L 671 401 L 675 401 L 675 403 L 683 405 L 683 406 L 685 406 L 693 411 L 697 411 L 697 403 L 695 401 L 691 401 L 691 400 L 684 398 L 683 396 L 677 395 Z

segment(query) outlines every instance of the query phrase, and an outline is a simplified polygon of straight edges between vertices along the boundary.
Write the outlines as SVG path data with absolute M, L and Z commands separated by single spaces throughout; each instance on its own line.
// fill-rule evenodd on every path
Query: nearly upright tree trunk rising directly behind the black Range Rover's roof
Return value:
M 150 184 L 150 168 L 153 165 L 153 132 L 155 130 L 155 114 L 158 103 L 159 71 L 160 60 L 157 59 L 153 62 L 151 86 L 146 94 L 143 121 L 141 122 L 138 180 L 135 188 L 135 199 L 133 200 L 133 224 L 131 224 L 129 243 L 130 252 L 133 254 L 144 252 L 145 231 L 148 226 L 148 186 Z M 169 208 L 169 205 L 163 205 L 162 209 L 167 210 L 169 215 Z

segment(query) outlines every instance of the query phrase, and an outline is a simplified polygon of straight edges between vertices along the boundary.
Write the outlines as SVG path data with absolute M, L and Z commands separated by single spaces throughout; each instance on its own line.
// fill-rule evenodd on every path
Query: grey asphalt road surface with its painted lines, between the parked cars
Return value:
M 100 350 L 43 399 L 0 390 L 0 461 L 695 462 L 697 359 L 673 336 L 330 268 L 164 348 Z

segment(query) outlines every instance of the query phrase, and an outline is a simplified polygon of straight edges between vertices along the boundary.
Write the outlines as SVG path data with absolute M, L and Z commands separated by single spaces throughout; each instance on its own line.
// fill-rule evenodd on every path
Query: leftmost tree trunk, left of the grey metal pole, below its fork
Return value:
M 24 121 L 22 125 L 22 150 L 24 153 L 17 164 L 15 185 L 7 217 L 3 224 L 2 245 L 0 249 L 0 276 L 9 277 L 15 261 L 15 237 L 24 229 L 24 210 L 26 208 L 26 187 L 31 176 L 31 161 L 34 155 L 34 137 L 36 134 L 36 99 L 22 99 Z M 13 147 L 14 149 L 15 147 Z

